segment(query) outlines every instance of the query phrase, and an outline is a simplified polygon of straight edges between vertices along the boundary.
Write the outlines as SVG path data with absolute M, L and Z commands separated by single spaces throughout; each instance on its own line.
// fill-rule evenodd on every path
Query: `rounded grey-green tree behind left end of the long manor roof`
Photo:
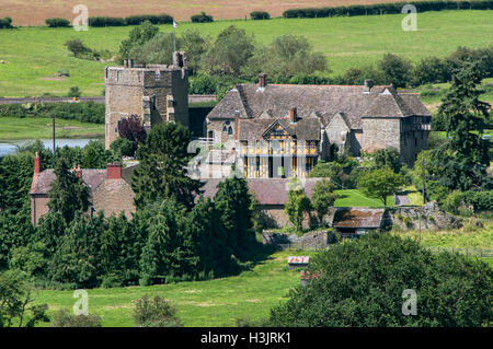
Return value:
M 219 33 L 213 47 L 204 57 L 204 63 L 209 72 L 238 75 L 241 68 L 253 56 L 253 36 L 231 25 Z

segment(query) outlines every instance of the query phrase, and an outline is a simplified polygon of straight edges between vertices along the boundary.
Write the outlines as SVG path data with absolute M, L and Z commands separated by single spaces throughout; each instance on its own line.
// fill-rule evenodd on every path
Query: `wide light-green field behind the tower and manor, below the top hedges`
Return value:
M 427 56 L 444 57 L 458 46 L 484 47 L 493 43 L 493 11 L 440 11 L 417 15 L 417 31 L 403 32 L 404 14 L 326 19 L 274 19 L 270 21 L 218 21 L 206 24 L 180 23 L 177 34 L 198 28 L 216 36 L 234 24 L 252 33 L 260 43 L 291 33 L 305 35 L 322 51 L 333 70 L 341 73 L 352 67 L 376 62 L 385 53 L 417 61 Z M 64 95 L 79 86 L 83 95 L 101 95 L 106 65 L 71 57 L 64 43 L 80 37 L 94 49 L 117 51 L 131 27 L 72 28 L 21 27 L 0 31 L 0 96 Z M 162 25 L 161 31 L 171 31 Z M 70 78 L 56 78 L 58 70 L 70 70 Z

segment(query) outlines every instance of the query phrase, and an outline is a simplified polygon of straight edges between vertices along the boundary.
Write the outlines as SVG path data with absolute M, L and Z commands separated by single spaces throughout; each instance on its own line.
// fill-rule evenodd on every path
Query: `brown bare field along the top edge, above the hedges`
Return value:
M 252 11 L 267 11 L 271 16 L 280 16 L 283 11 L 297 8 L 320 8 L 365 3 L 397 2 L 395 0 L 0 0 L 0 18 L 9 15 L 14 25 L 43 25 L 48 18 L 65 18 L 72 21 L 77 14 L 72 9 L 85 4 L 89 15 L 127 16 L 130 14 L 168 13 L 177 21 L 190 21 L 190 16 L 205 11 L 215 19 L 243 19 Z

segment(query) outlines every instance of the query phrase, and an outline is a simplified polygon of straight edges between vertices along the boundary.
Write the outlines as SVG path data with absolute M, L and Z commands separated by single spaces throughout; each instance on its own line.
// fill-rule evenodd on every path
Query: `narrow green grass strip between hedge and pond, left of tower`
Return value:
M 0 117 L 0 139 L 49 139 L 53 137 L 50 118 Z M 81 123 L 77 120 L 56 119 L 57 138 L 95 138 L 104 137 L 104 125 Z

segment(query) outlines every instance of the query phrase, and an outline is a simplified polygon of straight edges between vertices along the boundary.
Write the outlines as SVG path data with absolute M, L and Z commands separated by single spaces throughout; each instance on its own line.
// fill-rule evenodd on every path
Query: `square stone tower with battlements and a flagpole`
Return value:
M 105 146 L 118 138 L 118 123 L 136 114 L 149 130 L 161 121 L 188 127 L 188 72 L 184 53 L 173 53 L 173 65 L 106 67 Z

